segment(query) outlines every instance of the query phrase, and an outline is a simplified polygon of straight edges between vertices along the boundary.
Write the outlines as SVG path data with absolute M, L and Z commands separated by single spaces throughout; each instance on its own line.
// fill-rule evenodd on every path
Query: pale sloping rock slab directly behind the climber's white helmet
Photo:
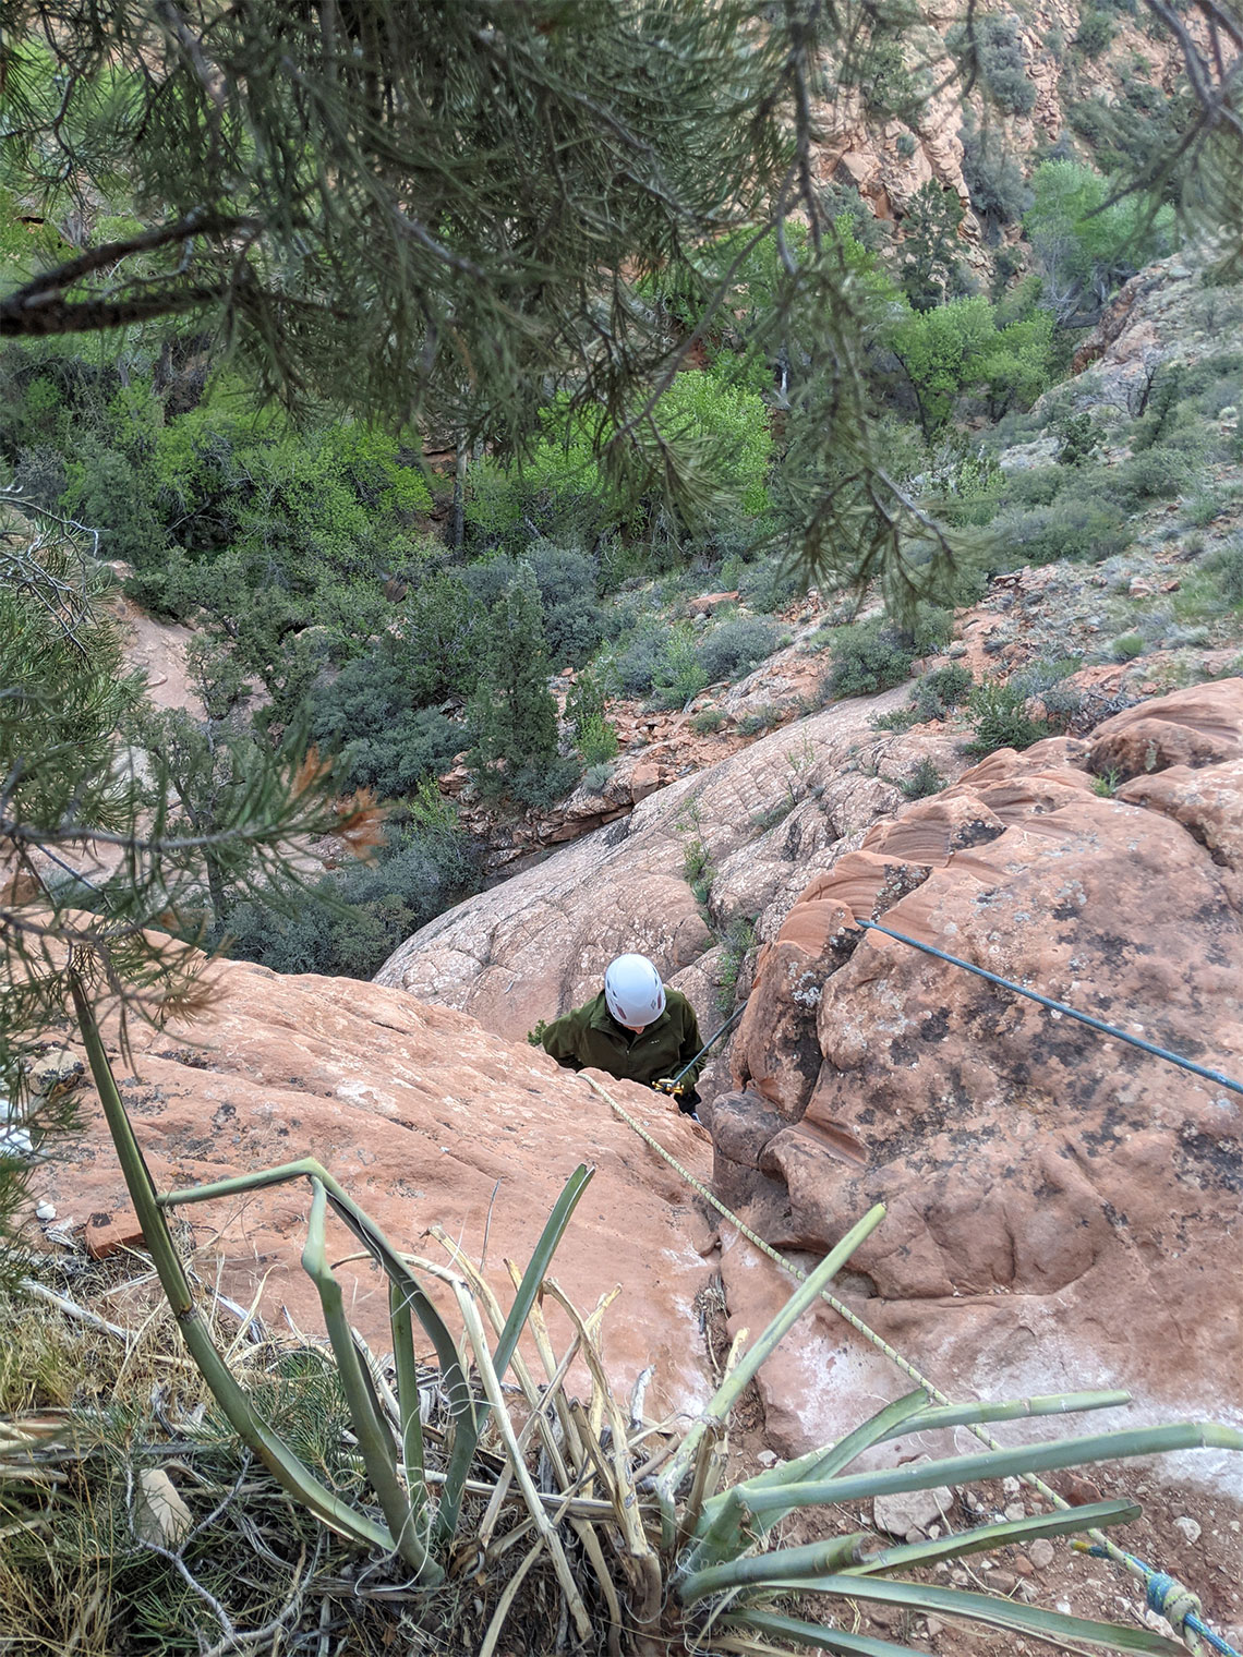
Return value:
M 472 1012 L 520 1037 L 595 994 L 608 961 L 651 956 L 704 1024 L 719 1022 L 716 931 L 779 925 L 807 878 L 902 802 L 920 759 L 955 775 L 946 737 L 872 729 L 905 689 L 837 703 L 641 800 L 534 868 L 406 940 L 376 983 Z M 698 893 L 694 890 L 698 886 Z

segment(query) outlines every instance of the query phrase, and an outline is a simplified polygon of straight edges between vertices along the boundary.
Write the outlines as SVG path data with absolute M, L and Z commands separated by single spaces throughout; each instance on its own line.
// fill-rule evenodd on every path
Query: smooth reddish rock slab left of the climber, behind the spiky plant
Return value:
M 613 1379 L 656 1365 L 650 1408 L 703 1399 L 703 1342 L 693 1302 L 711 1274 L 713 1233 L 686 1185 L 590 1089 L 542 1051 L 512 1046 L 449 1007 L 346 978 L 278 976 L 262 966 L 215 969 L 209 1022 L 131 1026 L 134 1072 L 118 1082 L 162 1190 L 317 1157 L 414 1254 L 447 1258 L 426 1236 L 443 1226 L 476 1259 L 502 1304 L 504 1259 L 525 1268 L 565 1180 L 582 1162 L 595 1178 L 580 1200 L 554 1273 L 577 1306 L 622 1284 L 603 1326 Z M 113 1032 L 114 1036 L 114 1032 Z M 114 1044 L 113 1044 L 114 1046 Z M 706 1135 L 663 1099 L 628 1082 L 610 1090 L 691 1170 L 708 1173 Z M 99 1107 L 83 1090 L 83 1133 L 70 1157 L 40 1168 L 33 1193 L 53 1200 L 61 1229 L 86 1225 L 93 1253 L 141 1246 Z M 305 1181 L 177 1211 L 206 1251 L 201 1276 L 285 1327 L 322 1332 L 300 1268 Z M 330 1258 L 353 1254 L 331 1226 Z M 350 1319 L 388 1349 L 385 1283 L 366 1264 L 338 1271 Z M 552 1316 L 552 1309 L 550 1316 Z M 568 1324 L 555 1331 L 568 1344 Z

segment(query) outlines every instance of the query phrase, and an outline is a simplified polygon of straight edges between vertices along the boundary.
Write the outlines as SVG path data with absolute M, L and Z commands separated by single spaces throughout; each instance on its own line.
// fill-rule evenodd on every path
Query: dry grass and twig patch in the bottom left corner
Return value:
M 368 1559 L 331 1536 L 250 1463 L 184 1355 L 143 1256 L 91 1263 L 66 1254 L 36 1271 L 45 1289 L 129 1334 L 116 1339 L 31 1292 L 0 1299 L 0 1657 L 479 1652 L 532 1543 L 512 1503 L 487 1548 L 464 1551 L 443 1587 L 403 1587 L 396 1561 Z M 328 1352 L 268 1331 L 245 1341 L 210 1291 L 202 1304 L 272 1427 L 335 1490 L 365 1501 Z M 520 1430 L 520 1408 L 515 1422 Z M 433 1445 L 444 1425 L 433 1400 Z M 466 1536 L 479 1531 L 486 1490 L 504 1463 L 496 1433 L 487 1435 Z M 169 1473 L 194 1526 L 162 1551 L 144 1539 L 139 1518 L 141 1475 L 152 1468 Z M 578 1649 L 605 1652 L 610 1611 L 582 1541 L 568 1534 L 565 1551 L 598 1629 L 598 1640 Z M 501 1654 L 573 1642 L 547 1553 L 512 1596 L 504 1634 Z

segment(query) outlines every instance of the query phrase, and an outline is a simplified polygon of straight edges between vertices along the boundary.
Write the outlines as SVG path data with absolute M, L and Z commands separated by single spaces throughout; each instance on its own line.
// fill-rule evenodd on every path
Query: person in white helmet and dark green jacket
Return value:
M 545 1052 L 567 1070 L 590 1065 L 623 1082 L 643 1082 L 694 1115 L 699 1104 L 694 1084 L 703 1069 L 694 1009 L 681 991 L 665 989 L 645 954 L 610 961 L 600 994 L 554 1019 L 542 1041 Z M 686 1074 L 675 1085 L 683 1069 Z

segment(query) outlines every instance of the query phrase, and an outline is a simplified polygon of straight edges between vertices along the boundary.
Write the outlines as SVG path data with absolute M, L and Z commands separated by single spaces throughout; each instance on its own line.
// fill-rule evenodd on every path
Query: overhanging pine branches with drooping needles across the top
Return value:
M 1236 242 L 1233 0 L 1197 0 L 1195 28 L 1149 8 L 1200 116 L 1145 182 L 1177 174 L 1187 210 L 1225 217 Z M 956 58 L 988 96 L 981 30 L 968 7 Z M 834 456 L 794 492 L 791 552 L 824 575 L 827 550 L 857 545 L 855 575 L 893 573 L 903 535 L 925 534 L 868 426 L 863 295 L 815 184 L 815 108 L 839 86 L 893 58 L 915 103 L 958 73 L 945 53 L 915 61 L 892 8 L 0 0 L 0 184 L 60 235 L 28 239 L 0 331 L 192 316 L 290 403 L 519 456 L 563 398 L 613 486 L 658 489 L 693 520 L 711 509 L 706 467 L 656 404 L 776 230 L 772 305 L 744 346 L 800 368 L 794 418 Z M 104 222 L 121 197 L 134 217 Z M 696 295 L 681 328 L 646 298 L 653 275 Z M 951 547 L 933 545 L 943 565 Z

